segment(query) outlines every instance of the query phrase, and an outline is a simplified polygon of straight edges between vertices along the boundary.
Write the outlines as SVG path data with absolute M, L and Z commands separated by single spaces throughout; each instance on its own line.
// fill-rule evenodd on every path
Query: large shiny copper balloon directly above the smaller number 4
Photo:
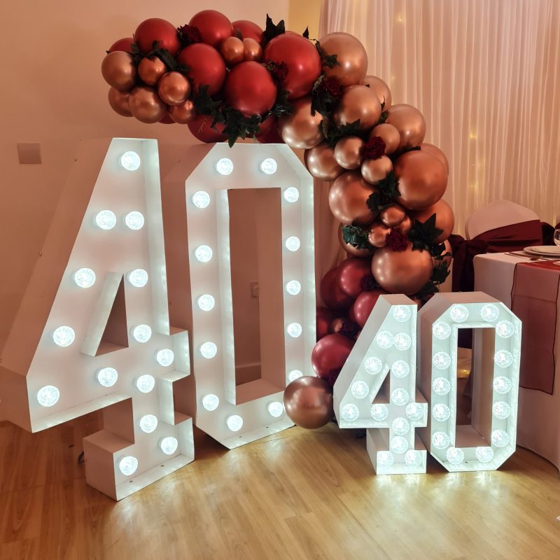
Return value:
M 384 247 L 377 249 L 372 258 L 374 279 L 391 293 L 415 294 L 426 285 L 432 270 L 429 251 L 412 251 L 410 242 L 405 251 Z

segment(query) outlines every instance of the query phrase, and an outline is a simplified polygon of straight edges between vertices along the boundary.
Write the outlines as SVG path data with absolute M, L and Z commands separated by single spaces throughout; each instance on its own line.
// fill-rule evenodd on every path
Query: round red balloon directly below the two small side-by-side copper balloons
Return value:
M 225 80 L 225 101 L 244 116 L 262 115 L 276 101 L 276 84 L 269 71 L 258 62 L 241 62 Z

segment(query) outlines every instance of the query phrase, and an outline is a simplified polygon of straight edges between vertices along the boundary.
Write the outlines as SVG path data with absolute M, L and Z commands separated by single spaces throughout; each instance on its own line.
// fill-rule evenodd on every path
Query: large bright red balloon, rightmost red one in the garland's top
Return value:
M 295 33 L 278 35 L 265 47 L 265 62 L 288 65 L 283 88 L 290 92 L 288 99 L 308 94 L 321 73 L 321 57 L 314 44 Z

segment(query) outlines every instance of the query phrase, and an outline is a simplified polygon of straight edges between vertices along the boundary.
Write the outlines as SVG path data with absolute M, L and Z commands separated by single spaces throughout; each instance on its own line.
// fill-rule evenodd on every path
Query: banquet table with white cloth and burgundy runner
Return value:
M 554 266 L 549 261 L 546 262 L 547 264 L 545 261 L 531 261 L 526 257 L 507 253 L 477 255 L 474 260 L 475 290 L 496 297 L 510 309 L 512 309 L 512 293 L 514 293 L 514 309 L 512 310 L 515 312 L 519 292 L 514 292 L 514 281 L 519 281 L 520 270 L 524 274 L 529 289 L 524 295 L 526 321 L 522 327 L 524 337 L 521 346 L 517 444 L 547 458 L 556 465 L 556 468 L 560 469 L 560 295 L 557 289 L 560 282 L 560 266 Z M 547 303 L 542 300 L 542 294 L 545 292 L 545 288 L 542 286 L 543 269 L 545 269 L 545 280 L 549 281 L 548 293 L 555 293 L 555 307 L 554 300 Z M 554 291 L 555 286 L 556 291 Z M 543 315 L 545 315 L 542 313 L 543 304 L 549 306 L 552 304 L 553 309 L 549 308 L 547 314 L 548 323 L 543 323 Z M 523 321 L 521 316 L 519 318 Z M 535 328 L 535 325 L 540 328 Z M 544 325 L 546 325 L 546 329 L 543 329 Z M 539 344 L 542 347 L 541 335 L 543 332 L 551 342 L 547 362 L 549 367 L 545 372 L 549 376 L 549 386 L 544 389 L 526 388 L 522 385 L 531 385 L 531 377 L 542 374 L 542 371 L 532 367 L 532 364 L 525 363 L 524 365 L 523 353 L 538 356 L 535 354 L 535 350 Z M 523 378 L 525 378 L 525 383 Z

